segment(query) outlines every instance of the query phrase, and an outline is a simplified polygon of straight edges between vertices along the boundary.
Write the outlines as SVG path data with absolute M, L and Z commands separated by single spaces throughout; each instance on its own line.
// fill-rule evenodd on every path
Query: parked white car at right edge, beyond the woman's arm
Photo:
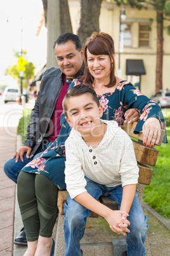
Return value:
M 159 90 L 151 97 L 161 108 L 170 108 L 170 90 Z

